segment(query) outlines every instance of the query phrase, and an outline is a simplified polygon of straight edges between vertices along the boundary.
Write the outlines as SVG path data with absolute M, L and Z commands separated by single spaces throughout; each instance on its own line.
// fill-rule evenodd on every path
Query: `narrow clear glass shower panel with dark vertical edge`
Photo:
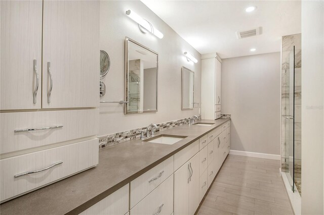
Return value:
M 286 69 L 286 78 L 288 79 L 287 90 L 289 90 L 289 92 L 287 92 L 288 97 L 286 99 L 286 115 L 284 115 L 285 133 L 286 133 L 285 162 L 286 162 L 286 167 L 288 167 L 286 170 L 287 178 L 294 192 L 295 191 L 295 184 L 294 184 L 295 46 L 293 46 L 292 50 L 289 53 L 289 66 L 288 69 Z

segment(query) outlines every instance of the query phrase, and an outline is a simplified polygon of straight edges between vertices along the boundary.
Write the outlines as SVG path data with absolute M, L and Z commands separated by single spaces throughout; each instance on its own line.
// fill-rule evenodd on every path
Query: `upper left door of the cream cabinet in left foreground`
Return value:
M 43 2 L 0 1 L 0 4 L 0 109 L 40 109 L 42 104 Z M 36 71 L 38 91 L 34 93 L 37 83 Z

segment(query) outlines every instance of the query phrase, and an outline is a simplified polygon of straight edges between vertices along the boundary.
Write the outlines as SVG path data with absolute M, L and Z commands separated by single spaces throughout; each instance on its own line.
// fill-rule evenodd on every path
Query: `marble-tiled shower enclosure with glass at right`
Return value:
M 282 37 L 281 171 L 301 194 L 301 35 Z

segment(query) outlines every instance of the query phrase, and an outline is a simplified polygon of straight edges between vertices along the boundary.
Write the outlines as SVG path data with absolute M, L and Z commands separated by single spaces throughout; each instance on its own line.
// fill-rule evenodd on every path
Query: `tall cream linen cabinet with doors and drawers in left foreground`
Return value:
M 1 1 L 1 202 L 98 164 L 99 1 Z

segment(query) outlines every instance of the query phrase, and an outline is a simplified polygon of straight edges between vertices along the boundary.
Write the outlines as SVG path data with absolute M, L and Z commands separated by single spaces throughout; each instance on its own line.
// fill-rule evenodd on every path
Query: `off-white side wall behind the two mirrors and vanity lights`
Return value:
M 158 39 L 149 33 L 142 33 L 138 25 L 125 15 L 128 9 L 134 10 L 150 21 L 164 34 L 164 38 Z M 101 103 L 99 135 L 197 115 L 198 108 L 181 111 L 181 67 L 185 66 L 195 72 L 194 99 L 195 102 L 200 103 L 200 60 L 197 64 L 188 62 L 183 52 L 191 52 L 196 59 L 200 59 L 200 54 L 139 1 L 100 2 L 100 48 L 107 51 L 111 60 L 110 70 L 103 79 L 106 84 L 106 95 L 101 100 L 124 99 L 124 40 L 126 36 L 158 53 L 158 112 L 124 115 L 122 104 Z

